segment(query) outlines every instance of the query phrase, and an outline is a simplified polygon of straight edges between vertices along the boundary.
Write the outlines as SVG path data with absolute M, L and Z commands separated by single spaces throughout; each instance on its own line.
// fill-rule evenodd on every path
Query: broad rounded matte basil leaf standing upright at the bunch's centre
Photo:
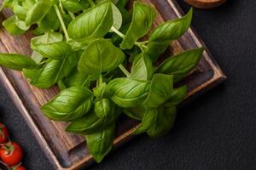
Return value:
M 107 39 L 90 42 L 79 60 L 79 71 L 87 75 L 111 71 L 125 59 L 125 54 Z

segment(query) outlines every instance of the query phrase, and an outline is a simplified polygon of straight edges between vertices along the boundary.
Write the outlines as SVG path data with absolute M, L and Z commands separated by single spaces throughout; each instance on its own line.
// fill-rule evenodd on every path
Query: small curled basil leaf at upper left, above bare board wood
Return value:
M 15 16 L 9 17 L 9 19 L 3 21 L 4 28 L 12 35 L 20 35 L 26 32 L 28 29 L 26 26 L 22 25 L 21 20 L 17 20 Z

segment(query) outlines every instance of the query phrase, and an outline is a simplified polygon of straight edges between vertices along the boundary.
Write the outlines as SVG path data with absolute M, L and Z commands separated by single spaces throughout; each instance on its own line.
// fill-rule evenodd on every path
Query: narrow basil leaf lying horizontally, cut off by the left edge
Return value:
M 0 54 L 0 65 L 21 71 L 22 69 L 37 68 L 37 63 L 26 55 L 20 54 Z

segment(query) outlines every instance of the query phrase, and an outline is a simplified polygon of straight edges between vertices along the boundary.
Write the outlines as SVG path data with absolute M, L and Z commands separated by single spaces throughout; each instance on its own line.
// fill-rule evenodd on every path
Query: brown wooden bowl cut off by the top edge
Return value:
M 227 0 L 185 0 L 195 8 L 215 8 L 225 3 Z

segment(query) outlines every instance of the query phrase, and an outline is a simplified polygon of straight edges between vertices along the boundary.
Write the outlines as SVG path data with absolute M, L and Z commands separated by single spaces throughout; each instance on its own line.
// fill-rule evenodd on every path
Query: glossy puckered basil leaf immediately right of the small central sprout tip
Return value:
M 148 96 L 149 83 L 130 78 L 115 78 L 108 83 L 111 99 L 122 108 L 142 105 Z

